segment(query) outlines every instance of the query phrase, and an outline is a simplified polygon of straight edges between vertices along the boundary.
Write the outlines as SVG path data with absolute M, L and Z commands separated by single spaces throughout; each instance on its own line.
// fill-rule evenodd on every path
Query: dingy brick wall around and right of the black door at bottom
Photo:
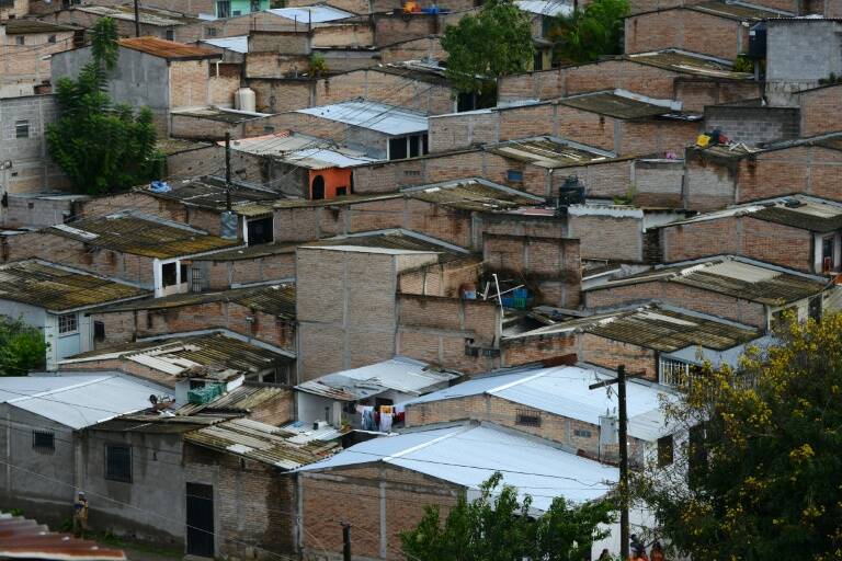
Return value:
M 217 556 L 277 559 L 294 550 L 294 479 L 268 463 L 184 444 L 184 477 L 214 488 Z

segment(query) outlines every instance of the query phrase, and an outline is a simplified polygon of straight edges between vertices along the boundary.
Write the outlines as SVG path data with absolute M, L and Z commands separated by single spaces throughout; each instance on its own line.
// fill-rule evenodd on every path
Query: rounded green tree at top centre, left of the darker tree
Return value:
M 526 71 L 535 53 L 530 15 L 511 0 L 489 0 L 478 14 L 448 25 L 442 47 L 454 88 L 480 94 L 498 78 Z

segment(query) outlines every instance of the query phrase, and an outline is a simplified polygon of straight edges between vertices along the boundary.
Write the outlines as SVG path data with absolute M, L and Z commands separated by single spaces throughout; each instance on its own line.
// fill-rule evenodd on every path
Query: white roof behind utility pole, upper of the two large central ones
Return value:
M 520 369 L 511 374 L 477 378 L 410 400 L 405 405 L 487 393 L 539 411 L 576 419 L 594 425 L 600 416 L 617 413 L 616 388 L 591 390 L 589 385 L 610 379 L 596 370 L 578 366 Z M 642 440 L 656 440 L 669 434 L 659 396 L 663 389 L 630 381 L 626 385 L 628 434 Z

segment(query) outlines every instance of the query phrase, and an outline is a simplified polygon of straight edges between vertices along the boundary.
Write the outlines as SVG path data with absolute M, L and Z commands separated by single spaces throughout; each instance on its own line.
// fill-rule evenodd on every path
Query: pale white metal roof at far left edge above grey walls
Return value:
M 75 377 L 68 377 L 73 380 Z M 2 392 L 3 379 L 0 379 Z M 29 397 L 7 402 L 71 428 L 84 428 L 126 413 L 150 407 L 150 394 L 166 393 L 161 386 L 144 383 L 117 375 L 95 377 L 87 382 L 77 381 Z

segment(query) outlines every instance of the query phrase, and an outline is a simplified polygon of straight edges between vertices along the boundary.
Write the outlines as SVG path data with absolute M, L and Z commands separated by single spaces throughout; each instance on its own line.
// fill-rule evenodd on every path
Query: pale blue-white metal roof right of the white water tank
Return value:
M 337 121 L 390 136 L 425 133 L 428 129 L 424 113 L 374 101 L 346 101 L 297 110 L 296 113 Z

